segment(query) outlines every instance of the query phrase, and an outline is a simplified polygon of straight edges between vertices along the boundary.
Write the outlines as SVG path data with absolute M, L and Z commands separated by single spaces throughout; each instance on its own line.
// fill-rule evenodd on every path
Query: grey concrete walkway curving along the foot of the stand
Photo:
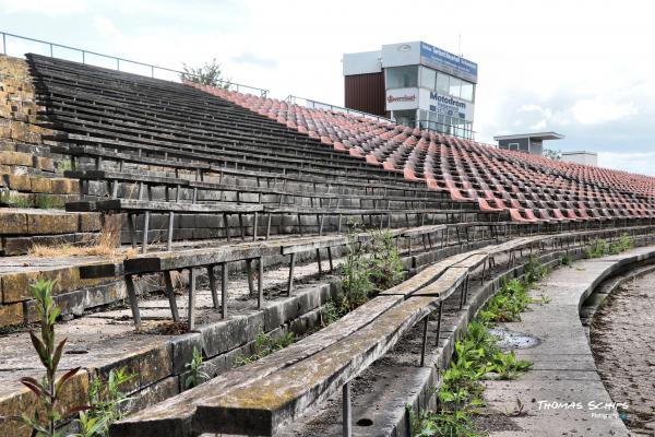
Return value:
M 522 321 L 503 323 L 503 328 L 540 340 L 516 355 L 534 363 L 533 370 L 517 381 L 488 381 L 485 399 L 490 408 L 504 411 L 517 398 L 525 402 L 527 415 L 514 417 L 525 435 L 561 436 L 564 434 L 594 436 L 628 436 L 626 425 L 616 410 L 593 410 L 594 404 L 610 405 L 588 340 L 580 321 L 580 307 L 605 279 L 626 265 L 655 259 L 655 248 L 647 246 L 628 252 L 574 262 L 569 269 L 550 274 L 539 293 L 550 302 L 534 306 Z M 614 401 L 621 402 L 620 399 Z M 580 403 L 577 409 L 540 408 L 541 403 Z M 630 409 L 630 406 L 628 406 Z M 594 416 L 594 413 L 598 415 Z M 608 414 L 607 417 L 604 414 Z M 576 432 L 573 432 L 576 429 Z M 491 436 L 507 434 L 490 433 Z

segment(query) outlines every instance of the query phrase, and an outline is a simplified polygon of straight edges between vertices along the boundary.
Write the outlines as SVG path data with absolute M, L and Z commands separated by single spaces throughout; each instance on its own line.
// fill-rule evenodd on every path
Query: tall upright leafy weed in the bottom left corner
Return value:
M 80 367 L 68 370 L 59 379 L 56 378 L 67 339 L 55 345 L 55 324 L 60 310 L 52 300 L 53 285 L 53 281 L 45 281 L 44 279 L 39 279 L 36 284 L 31 285 L 40 318 L 40 336 L 37 336 L 31 330 L 29 338 L 40 363 L 46 369 L 46 375 L 40 380 L 32 377 L 21 378 L 21 383 L 36 395 L 36 408 L 32 414 L 25 412 L 21 416 L 0 417 L 22 422 L 32 429 L 33 436 L 56 436 L 57 426 L 63 417 L 90 409 L 90 406 L 83 405 L 62 412 L 58 404 L 62 390 L 71 381 L 71 378 L 80 371 Z

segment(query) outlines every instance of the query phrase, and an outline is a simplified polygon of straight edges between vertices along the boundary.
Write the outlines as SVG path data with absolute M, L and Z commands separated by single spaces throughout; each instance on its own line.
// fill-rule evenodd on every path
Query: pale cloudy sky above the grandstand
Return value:
M 344 52 L 424 40 L 478 63 L 476 140 L 552 130 L 547 147 L 655 176 L 653 16 L 633 0 L 0 0 L 7 33 L 176 70 L 215 58 L 234 82 L 335 105 Z

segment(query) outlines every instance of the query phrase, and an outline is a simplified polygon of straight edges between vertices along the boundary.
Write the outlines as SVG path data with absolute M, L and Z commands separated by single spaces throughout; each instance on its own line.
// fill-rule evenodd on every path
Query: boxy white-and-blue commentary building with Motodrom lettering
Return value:
M 424 42 L 344 54 L 345 106 L 472 139 L 477 70 Z

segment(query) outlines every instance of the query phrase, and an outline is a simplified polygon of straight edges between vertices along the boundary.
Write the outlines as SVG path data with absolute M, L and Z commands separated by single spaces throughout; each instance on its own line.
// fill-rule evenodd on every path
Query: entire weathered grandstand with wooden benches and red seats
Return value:
M 546 345 L 535 379 L 516 381 L 529 397 L 559 399 L 585 373 L 585 402 L 612 401 L 579 307 L 655 257 L 655 178 L 192 81 L 34 54 L 0 63 L 0 416 L 35 409 L 19 378 L 39 371 L 28 285 L 47 277 L 71 351 L 61 369 L 82 369 L 61 403 L 83 403 L 111 369 L 136 375 L 111 436 L 410 435 L 406 405 L 433 408 L 440 371 L 503 281 L 629 238 L 640 247 L 547 277 L 551 303 L 520 328 Z M 380 229 L 403 281 L 323 323 L 340 265 Z M 236 366 L 258 335 L 288 332 L 300 340 Z M 561 383 L 539 374 L 558 347 L 575 355 Z M 187 389 L 194 351 L 211 379 Z M 507 390 L 490 388 L 489 403 L 513 402 Z M 561 435 L 581 420 L 556 410 L 489 430 Z M 610 430 L 628 435 L 618 417 L 581 435 Z M 29 430 L 2 421 L 0 434 Z

